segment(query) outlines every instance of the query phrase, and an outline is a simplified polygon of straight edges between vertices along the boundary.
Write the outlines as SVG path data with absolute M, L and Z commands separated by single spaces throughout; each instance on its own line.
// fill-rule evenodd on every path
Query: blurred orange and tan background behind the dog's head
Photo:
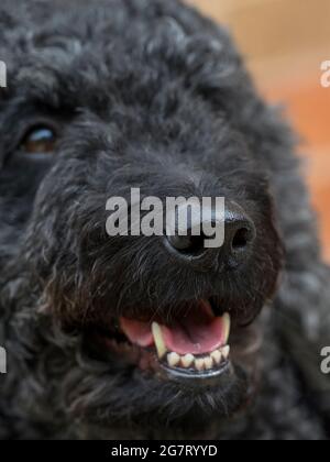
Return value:
M 285 103 L 301 136 L 305 175 L 330 261 L 330 88 L 320 82 L 321 63 L 330 61 L 330 1 L 186 1 L 231 29 L 260 90 Z

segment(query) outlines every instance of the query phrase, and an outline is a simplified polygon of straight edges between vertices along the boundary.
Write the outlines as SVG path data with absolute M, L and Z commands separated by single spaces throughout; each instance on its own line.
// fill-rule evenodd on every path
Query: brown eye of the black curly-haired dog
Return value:
M 23 139 L 22 148 L 29 154 L 47 154 L 55 148 L 56 134 L 48 127 L 32 129 Z

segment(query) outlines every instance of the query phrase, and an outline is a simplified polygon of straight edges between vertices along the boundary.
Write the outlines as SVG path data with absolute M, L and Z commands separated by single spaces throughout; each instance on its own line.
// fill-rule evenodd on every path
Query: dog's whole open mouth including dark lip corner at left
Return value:
M 210 301 L 189 306 L 170 322 L 121 317 L 107 345 L 142 370 L 163 371 L 168 377 L 216 377 L 230 365 L 231 319 L 216 316 Z

